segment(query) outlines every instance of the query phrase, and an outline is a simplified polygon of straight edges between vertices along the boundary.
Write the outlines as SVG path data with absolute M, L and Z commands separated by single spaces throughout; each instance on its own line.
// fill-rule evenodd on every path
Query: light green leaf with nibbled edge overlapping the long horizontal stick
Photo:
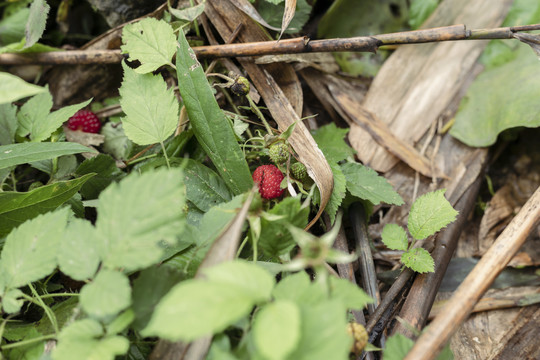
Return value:
M 141 62 L 141 66 L 135 69 L 139 74 L 171 64 L 177 46 L 172 27 L 151 17 L 126 25 L 122 30 L 122 41 L 122 53 L 129 54 L 130 60 Z

